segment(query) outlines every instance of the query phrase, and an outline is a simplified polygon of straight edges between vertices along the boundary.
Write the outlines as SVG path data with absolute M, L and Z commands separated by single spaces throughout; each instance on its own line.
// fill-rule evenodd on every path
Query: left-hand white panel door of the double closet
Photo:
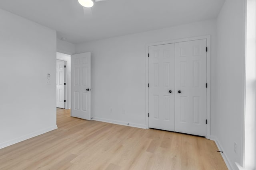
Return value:
M 150 46 L 149 55 L 149 127 L 174 131 L 175 45 Z

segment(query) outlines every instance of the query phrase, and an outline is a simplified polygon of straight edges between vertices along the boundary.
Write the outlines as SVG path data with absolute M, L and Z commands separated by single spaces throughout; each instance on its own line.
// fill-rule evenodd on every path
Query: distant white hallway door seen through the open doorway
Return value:
M 57 70 L 56 70 L 56 102 L 57 107 L 65 109 L 65 62 L 57 60 Z

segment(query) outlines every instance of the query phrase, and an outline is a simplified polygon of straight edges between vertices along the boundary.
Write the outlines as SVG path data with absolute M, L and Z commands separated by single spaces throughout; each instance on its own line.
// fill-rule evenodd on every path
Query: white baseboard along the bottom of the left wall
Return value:
M 46 132 L 49 132 L 49 131 L 52 131 L 52 130 L 55 130 L 55 129 L 58 129 L 57 125 L 54 125 L 52 127 L 48 127 L 46 129 L 42 129 L 40 131 L 36 131 L 34 133 L 30 133 L 28 135 L 24 135 L 22 137 L 18 137 L 18 138 L 12 139 L 12 140 L 4 142 L 4 143 L 0 143 L 0 149 L 8 147 L 10 145 L 14 145 L 15 143 L 19 143 L 21 141 L 25 141 L 25 140 L 30 139 L 32 137 L 36 137 L 38 135 L 42 135 L 42 134 L 44 134 Z

